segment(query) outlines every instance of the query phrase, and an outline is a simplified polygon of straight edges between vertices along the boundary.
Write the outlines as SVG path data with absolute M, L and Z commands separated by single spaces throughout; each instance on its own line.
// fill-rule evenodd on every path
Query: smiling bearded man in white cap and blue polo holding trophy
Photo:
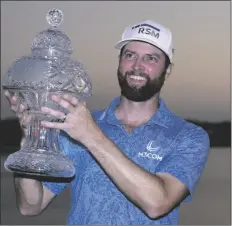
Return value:
M 191 199 L 205 167 L 209 137 L 160 98 L 173 63 L 169 29 L 150 20 L 129 26 L 116 48 L 121 96 L 108 108 L 91 114 L 64 95 L 52 99 L 67 115 L 42 109 L 64 118 L 41 123 L 64 132 L 62 151 L 76 166 L 68 224 L 178 224 L 179 205 Z M 15 185 L 23 215 L 39 214 L 67 186 L 26 178 Z

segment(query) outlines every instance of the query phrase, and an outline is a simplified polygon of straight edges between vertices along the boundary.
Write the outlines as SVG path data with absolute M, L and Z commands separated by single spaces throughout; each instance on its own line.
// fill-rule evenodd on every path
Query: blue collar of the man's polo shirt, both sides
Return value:
M 112 125 L 121 125 L 121 122 L 115 116 L 115 110 L 120 102 L 120 97 L 116 97 L 112 100 L 108 108 L 103 111 L 99 120 L 104 120 L 105 122 Z M 147 125 L 157 124 L 168 128 L 171 123 L 171 112 L 167 108 L 163 99 L 159 99 L 160 106 L 152 118 L 146 123 Z

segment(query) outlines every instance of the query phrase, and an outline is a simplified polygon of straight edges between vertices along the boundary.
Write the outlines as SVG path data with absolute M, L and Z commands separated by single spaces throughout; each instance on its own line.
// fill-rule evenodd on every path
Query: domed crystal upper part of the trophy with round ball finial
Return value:
M 90 96 L 91 80 L 84 66 L 71 59 L 69 37 L 58 29 L 63 21 L 59 9 L 50 10 L 46 19 L 50 27 L 39 32 L 31 46 L 31 55 L 16 60 L 4 76 L 4 89 L 65 91 L 80 97 Z

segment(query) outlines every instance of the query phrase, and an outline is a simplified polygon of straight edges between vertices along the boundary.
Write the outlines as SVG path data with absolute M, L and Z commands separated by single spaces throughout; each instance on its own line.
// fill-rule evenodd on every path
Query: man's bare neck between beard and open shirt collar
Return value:
M 159 95 L 144 102 L 134 102 L 121 96 L 116 117 L 124 124 L 138 126 L 147 122 L 159 107 Z

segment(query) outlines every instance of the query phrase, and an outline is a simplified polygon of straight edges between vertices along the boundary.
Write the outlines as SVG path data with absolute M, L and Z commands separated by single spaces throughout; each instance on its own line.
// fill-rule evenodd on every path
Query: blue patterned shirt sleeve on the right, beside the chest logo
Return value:
M 205 130 L 192 124 L 186 125 L 172 145 L 172 154 L 159 164 L 156 172 L 169 173 L 179 179 L 192 194 L 205 168 L 210 150 L 209 136 Z

